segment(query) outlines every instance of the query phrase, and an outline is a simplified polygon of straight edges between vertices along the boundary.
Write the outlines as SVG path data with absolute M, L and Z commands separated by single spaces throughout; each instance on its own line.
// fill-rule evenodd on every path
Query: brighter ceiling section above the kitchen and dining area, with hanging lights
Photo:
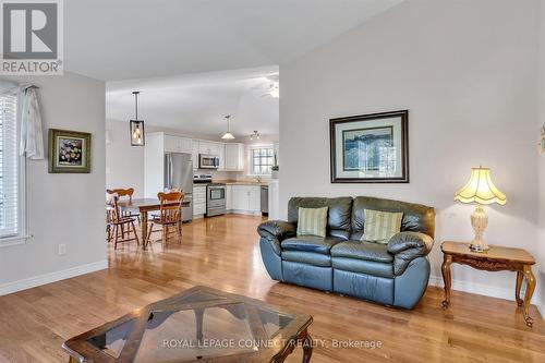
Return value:
M 207 72 L 146 80 L 108 82 L 107 119 L 134 118 L 133 90 L 141 90 L 138 118 L 146 124 L 207 135 L 226 132 L 223 116 L 231 114 L 231 131 L 247 136 L 278 134 L 278 98 L 268 94 L 278 66 Z

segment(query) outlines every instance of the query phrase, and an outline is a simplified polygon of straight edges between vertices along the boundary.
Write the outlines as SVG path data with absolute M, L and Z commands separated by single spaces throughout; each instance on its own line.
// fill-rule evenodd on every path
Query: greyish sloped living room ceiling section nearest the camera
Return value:
M 64 1 L 64 65 L 113 81 L 281 64 L 401 1 Z

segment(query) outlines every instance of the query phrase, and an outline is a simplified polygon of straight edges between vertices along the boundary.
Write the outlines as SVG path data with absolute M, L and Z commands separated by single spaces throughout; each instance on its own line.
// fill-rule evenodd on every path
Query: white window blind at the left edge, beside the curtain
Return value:
M 0 94 L 0 239 L 21 233 L 16 113 L 17 97 Z

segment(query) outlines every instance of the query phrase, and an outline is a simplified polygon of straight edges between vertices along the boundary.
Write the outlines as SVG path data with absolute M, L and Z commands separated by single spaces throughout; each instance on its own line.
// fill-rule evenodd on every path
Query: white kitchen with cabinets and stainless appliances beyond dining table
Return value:
M 269 185 L 277 187 L 278 180 L 267 176 L 270 172 L 265 168 L 270 168 L 278 152 L 278 143 L 252 147 L 149 133 L 144 152 L 145 197 L 155 197 L 158 191 L 183 191 L 189 202 L 182 209 L 184 222 L 226 214 L 268 216 L 269 206 L 278 204 L 271 198 L 278 193 L 269 194 Z M 253 174 L 255 168 L 258 174 Z

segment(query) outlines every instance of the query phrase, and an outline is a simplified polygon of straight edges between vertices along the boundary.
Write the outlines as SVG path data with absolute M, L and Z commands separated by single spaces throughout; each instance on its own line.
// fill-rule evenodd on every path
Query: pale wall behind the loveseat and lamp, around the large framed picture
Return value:
M 280 204 L 371 195 L 434 206 L 432 283 L 440 243 L 473 237 L 473 206 L 452 195 L 470 168 L 507 194 L 485 238 L 537 255 L 537 1 L 407 0 L 280 65 Z M 331 184 L 330 118 L 409 109 L 409 184 Z M 541 185 L 540 187 L 543 189 Z M 453 288 L 512 299 L 512 273 L 455 266 Z

